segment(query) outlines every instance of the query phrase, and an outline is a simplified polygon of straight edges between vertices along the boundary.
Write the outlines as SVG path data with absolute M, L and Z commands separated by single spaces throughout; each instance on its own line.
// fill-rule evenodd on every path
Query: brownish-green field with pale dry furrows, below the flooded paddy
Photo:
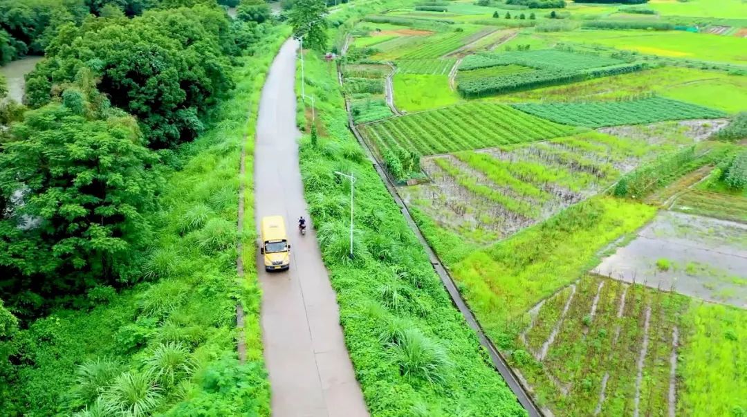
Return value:
M 559 416 L 661 413 L 670 407 L 672 329 L 686 306 L 643 285 L 583 277 L 537 312 L 526 341 L 542 368 L 522 371 Z

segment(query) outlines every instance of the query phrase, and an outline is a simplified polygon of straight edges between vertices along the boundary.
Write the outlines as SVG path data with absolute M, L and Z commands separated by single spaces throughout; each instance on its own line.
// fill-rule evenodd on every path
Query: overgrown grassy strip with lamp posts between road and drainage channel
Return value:
M 368 410 L 373 416 L 523 416 L 347 130 L 332 68 L 307 53 L 306 93 L 317 97 L 317 117 L 328 133 L 316 142 L 303 138 L 301 171 Z M 335 171 L 356 177 L 353 259 L 350 184 Z

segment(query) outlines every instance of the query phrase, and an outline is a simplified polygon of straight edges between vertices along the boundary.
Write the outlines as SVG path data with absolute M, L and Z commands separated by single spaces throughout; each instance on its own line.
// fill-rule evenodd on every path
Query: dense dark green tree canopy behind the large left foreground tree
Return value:
M 46 104 L 58 93 L 52 80 L 73 81 L 89 68 L 153 147 L 191 140 L 202 130 L 200 116 L 232 88 L 226 55 L 235 52 L 234 34 L 223 10 L 205 6 L 66 25 L 46 51 L 50 59 L 29 75 L 28 104 Z

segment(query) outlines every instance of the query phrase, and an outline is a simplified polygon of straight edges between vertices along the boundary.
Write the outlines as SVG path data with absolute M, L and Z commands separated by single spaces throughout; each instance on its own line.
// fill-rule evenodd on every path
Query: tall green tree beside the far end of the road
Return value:
M 303 37 L 305 48 L 324 52 L 327 43 L 326 4 L 323 0 L 297 0 L 288 21 L 293 27 L 294 37 Z

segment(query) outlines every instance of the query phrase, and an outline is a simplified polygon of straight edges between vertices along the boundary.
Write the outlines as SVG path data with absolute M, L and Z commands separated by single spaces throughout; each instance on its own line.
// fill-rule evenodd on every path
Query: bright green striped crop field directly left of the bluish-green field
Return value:
M 506 105 L 470 103 L 371 123 L 366 135 L 401 143 L 419 155 L 480 149 L 557 138 L 567 127 L 522 114 Z

